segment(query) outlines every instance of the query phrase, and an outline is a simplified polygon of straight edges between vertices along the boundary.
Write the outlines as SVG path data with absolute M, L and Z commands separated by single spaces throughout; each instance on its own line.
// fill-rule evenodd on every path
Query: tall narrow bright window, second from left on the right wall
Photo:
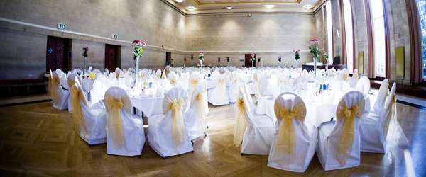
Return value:
M 344 11 L 344 28 L 346 30 L 346 58 L 348 70 L 350 73 L 354 71 L 354 33 L 352 26 L 352 9 L 351 1 L 343 0 Z

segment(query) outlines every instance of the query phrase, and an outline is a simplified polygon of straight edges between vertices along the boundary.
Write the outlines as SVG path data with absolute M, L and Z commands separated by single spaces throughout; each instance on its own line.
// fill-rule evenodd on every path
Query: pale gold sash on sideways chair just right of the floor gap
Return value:
M 234 144 L 236 147 L 241 144 L 244 137 L 244 132 L 246 132 L 247 122 L 246 122 L 246 113 L 250 113 L 250 109 L 246 108 L 246 103 L 244 101 L 244 93 L 239 94 L 239 98 L 236 100 L 236 119 L 234 123 L 234 130 L 232 134 L 234 134 Z

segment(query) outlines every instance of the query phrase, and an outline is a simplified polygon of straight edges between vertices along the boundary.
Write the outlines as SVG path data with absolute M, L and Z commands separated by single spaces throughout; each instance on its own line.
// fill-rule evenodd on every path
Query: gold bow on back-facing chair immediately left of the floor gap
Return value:
M 180 147 L 182 147 L 183 142 L 185 141 L 184 137 L 184 122 L 183 122 L 183 113 L 182 110 L 185 108 L 185 100 L 179 98 L 179 101 L 176 98 L 172 99 L 168 94 L 164 96 L 163 99 L 163 114 L 165 115 L 170 110 L 172 111 L 173 118 L 173 139 L 175 142 L 175 152 L 178 153 Z

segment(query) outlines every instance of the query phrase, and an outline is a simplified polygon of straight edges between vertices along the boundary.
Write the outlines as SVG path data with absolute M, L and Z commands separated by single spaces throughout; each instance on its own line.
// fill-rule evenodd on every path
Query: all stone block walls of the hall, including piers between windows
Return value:
M 339 0 L 332 3 L 332 28 L 334 55 L 342 55 L 342 35 Z M 410 81 L 410 31 L 408 29 L 405 0 L 383 0 L 388 15 L 391 42 L 391 81 L 395 78 L 395 47 L 405 47 L 405 84 Z M 351 1 L 354 16 L 355 54 L 364 52 L 368 59 L 366 38 L 366 15 L 364 1 Z M 56 28 L 65 23 L 67 31 L 118 40 L 142 40 L 148 44 L 143 51 L 140 66 L 158 69 L 165 66 L 166 52 L 172 52 L 173 67 L 190 66 L 190 54 L 206 51 L 205 65 L 229 64 L 241 67 L 245 54 L 256 53 L 262 58 L 263 66 L 279 65 L 278 56 L 283 56 L 281 65 L 294 65 L 293 50 L 300 49 L 298 67 L 312 62 L 309 40 L 324 40 L 324 12 L 302 13 L 230 13 L 202 16 L 183 16 L 159 0 L 104 0 L 104 1 L 0 1 L 0 18 L 22 23 L 31 23 Z M 28 28 L 27 28 L 28 27 Z M 45 50 L 47 30 L 26 25 L 0 22 L 0 79 L 42 78 L 45 72 Z M 134 66 L 133 48 L 130 43 L 120 45 L 121 67 Z M 122 42 L 121 42 L 122 43 Z M 114 45 L 114 43 L 111 43 Z M 320 49 L 324 50 L 324 42 Z M 117 44 L 115 44 L 117 45 Z M 162 46 L 164 48 L 162 48 Z M 71 67 L 83 66 L 82 47 L 89 47 L 92 55 L 87 66 L 104 69 L 104 43 L 72 39 Z M 256 61 L 257 62 L 257 61 Z M 357 64 L 357 62 L 356 62 Z M 356 65 L 355 64 L 355 65 Z M 368 71 L 368 62 L 364 62 Z M 260 64 L 256 64 L 259 66 Z M 30 74 L 32 76 L 30 76 Z M 364 74 L 367 74 L 364 72 Z

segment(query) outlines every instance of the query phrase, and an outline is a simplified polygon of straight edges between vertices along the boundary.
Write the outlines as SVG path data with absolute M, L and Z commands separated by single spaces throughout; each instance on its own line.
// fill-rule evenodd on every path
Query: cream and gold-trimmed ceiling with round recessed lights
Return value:
M 313 13 L 327 0 L 163 0 L 185 15 L 209 13 Z M 266 8 L 272 5 L 273 8 Z M 312 6 L 305 8 L 305 6 Z M 232 9 L 226 9 L 232 6 Z M 190 8 L 195 8 L 190 11 Z

